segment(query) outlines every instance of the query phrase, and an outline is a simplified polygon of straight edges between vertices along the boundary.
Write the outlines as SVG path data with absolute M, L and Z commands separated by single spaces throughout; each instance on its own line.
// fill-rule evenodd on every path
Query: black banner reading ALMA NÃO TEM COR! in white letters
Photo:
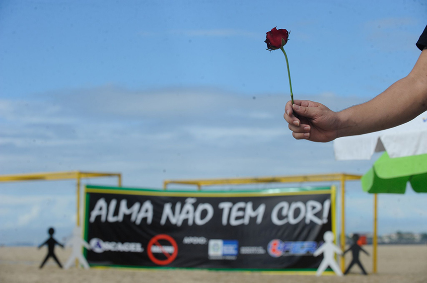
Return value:
M 315 270 L 331 189 L 177 192 L 86 187 L 92 266 Z

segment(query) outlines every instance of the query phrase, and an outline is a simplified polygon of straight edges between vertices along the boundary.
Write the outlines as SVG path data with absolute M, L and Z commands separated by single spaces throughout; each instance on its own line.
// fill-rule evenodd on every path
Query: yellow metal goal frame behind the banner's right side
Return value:
M 202 186 L 220 186 L 220 185 L 243 185 L 255 183 L 302 183 L 302 182 L 332 182 L 339 181 L 341 183 L 341 250 L 346 247 L 345 233 L 345 194 L 346 181 L 360 180 L 361 175 L 333 173 L 333 174 L 317 174 L 317 175 L 295 175 L 295 176 L 273 176 L 273 177 L 256 177 L 256 178 L 228 178 L 228 179 L 193 179 L 193 180 L 165 180 L 163 181 L 163 189 L 166 190 L 170 184 L 179 185 L 194 185 L 197 189 L 202 190 Z M 376 273 L 377 269 L 377 196 L 374 195 L 374 229 L 372 237 L 372 272 Z M 344 257 L 341 261 L 341 269 L 345 271 Z

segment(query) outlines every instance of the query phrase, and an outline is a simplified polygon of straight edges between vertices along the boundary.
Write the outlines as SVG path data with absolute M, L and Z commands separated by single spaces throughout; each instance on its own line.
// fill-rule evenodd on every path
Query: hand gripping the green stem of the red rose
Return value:
M 338 113 L 318 102 L 294 100 L 291 105 L 288 101 L 283 117 L 297 140 L 328 142 L 338 138 Z

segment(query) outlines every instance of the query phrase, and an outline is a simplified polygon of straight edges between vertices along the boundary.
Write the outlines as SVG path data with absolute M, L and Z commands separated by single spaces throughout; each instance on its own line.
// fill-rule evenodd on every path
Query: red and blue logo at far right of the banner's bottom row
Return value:
M 319 244 L 315 241 L 284 242 L 279 239 L 273 239 L 268 243 L 267 251 L 274 258 L 294 255 L 311 256 L 318 246 Z

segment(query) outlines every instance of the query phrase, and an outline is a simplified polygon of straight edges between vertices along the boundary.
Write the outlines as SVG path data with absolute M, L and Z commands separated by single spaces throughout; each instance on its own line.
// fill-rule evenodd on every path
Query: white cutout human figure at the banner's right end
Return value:
M 343 254 L 340 248 L 334 245 L 334 233 L 326 231 L 323 235 L 323 240 L 325 240 L 325 243 L 313 253 L 313 256 L 315 257 L 323 253 L 323 260 L 317 269 L 316 275 L 320 276 L 328 266 L 330 266 L 336 275 L 343 276 L 343 273 L 334 258 L 335 253 L 339 255 Z

